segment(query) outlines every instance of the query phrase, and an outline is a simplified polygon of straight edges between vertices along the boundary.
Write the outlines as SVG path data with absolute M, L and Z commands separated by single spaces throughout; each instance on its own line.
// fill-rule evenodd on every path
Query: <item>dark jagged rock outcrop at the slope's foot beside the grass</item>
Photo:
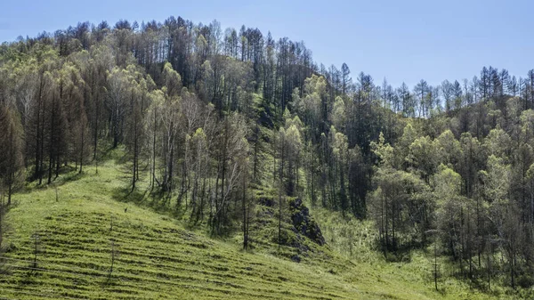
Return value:
M 303 205 L 303 200 L 295 199 L 289 203 L 292 214 L 291 221 L 293 221 L 294 231 L 301 233 L 308 239 L 312 239 L 313 242 L 322 246 L 325 244 L 325 238 L 323 237 L 319 225 L 315 223 L 310 215 L 308 207 Z

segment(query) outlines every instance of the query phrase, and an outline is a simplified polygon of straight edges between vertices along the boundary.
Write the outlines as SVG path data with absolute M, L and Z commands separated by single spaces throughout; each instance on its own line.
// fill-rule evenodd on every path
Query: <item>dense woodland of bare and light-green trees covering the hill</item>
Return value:
M 0 207 L 124 147 L 131 191 L 148 181 L 212 234 L 243 231 L 244 247 L 252 191 L 271 186 L 279 218 L 305 199 L 374 220 L 386 258 L 433 247 L 458 278 L 527 288 L 532 109 L 534 70 L 394 88 L 257 28 L 79 23 L 0 46 Z

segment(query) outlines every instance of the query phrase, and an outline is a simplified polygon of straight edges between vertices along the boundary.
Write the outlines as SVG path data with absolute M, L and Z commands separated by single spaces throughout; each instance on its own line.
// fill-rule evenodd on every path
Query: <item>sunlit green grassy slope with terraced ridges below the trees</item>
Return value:
M 354 224 L 361 230 L 350 246 L 339 240 L 349 237 L 336 215 L 321 210 L 312 214 L 329 246 L 300 264 L 268 243 L 244 252 L 238 237 L 210 239 L 151 208 L 150 199 L 125 201 L 119 166 L 110 158 L 98 175 L 86 167 L 15 195 L 1 299 L 498 298 L 456 280 L 435 292 L 424 255 L 385 263 L 365 242 L 372 234 L 365 223 Z

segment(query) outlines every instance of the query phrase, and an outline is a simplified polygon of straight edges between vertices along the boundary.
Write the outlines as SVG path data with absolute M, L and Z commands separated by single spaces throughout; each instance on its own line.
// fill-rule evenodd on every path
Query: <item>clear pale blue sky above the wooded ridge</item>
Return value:
M 472 78 L 481 68 L 526 76 L 534 69 L 534 2 L 529 0 L 368 1 L 4 1 L 0 41 L 36 36 L 89 20 L 163 21 L 170 15 L 195 23 L 219 20 L 222 28 L 260 28 L 275 38 L 303 40 L 326 66 L 346 62 L 352 77 L 364 71 L 380 84 L 421 78 Z

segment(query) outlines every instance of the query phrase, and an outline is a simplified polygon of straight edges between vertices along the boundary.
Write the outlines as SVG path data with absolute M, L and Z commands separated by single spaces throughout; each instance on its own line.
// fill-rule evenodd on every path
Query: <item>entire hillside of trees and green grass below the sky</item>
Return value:
M 531 298 L 533 124 L 534 69 L 393 88 L 180 17 L 20 37 L 1 296 Z

